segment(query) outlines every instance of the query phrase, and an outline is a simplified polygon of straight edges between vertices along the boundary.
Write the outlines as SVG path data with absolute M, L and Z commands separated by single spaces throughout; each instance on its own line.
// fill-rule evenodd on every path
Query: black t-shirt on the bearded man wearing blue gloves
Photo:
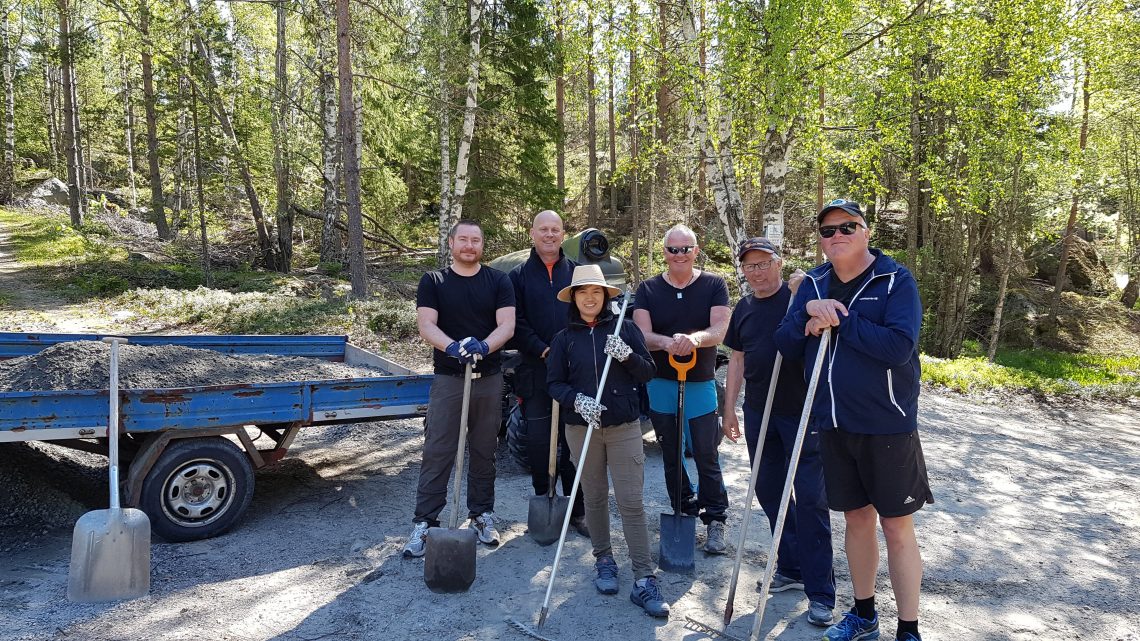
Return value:
M 416 307 L 430 307 L 438 311 L 437 324 L 451 340 L 474 336 L 484 341 L 498 326 L 495 313 L 504 307 L 514 307 L 514 287 L 506 274 L 487 266 L 482 266 L 474 276 L 461 276 L 448 267 L 429 271 L 420 278 Z M 502 354 L 492 351 L 475 364 L 474 371 L 495 374 L 502 360 Z M 437 374 L 463 375 L 463 365 L 447 352 L 433 349 L 432 362 Z

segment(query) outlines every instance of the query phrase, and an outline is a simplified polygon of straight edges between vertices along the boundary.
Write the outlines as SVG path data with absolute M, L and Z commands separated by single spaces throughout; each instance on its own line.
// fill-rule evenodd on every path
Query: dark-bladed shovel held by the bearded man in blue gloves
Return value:
M 467 445 L 467 411 L 471 407 L 471 364 L 463 372 L 463 409 L 459 412 L 459 447 L 455 453 L 455 492 L 447 528 L 427 529 L 424 583 L 432 592 L 466 592 L 475 582 L 475 530 L 459 527 L 459 485 L 463 449 Z

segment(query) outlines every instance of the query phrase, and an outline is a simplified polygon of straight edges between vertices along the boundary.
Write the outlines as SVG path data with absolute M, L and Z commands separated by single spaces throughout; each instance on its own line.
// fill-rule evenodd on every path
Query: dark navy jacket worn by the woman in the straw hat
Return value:
M 609 307 L 609 306 L 606 306 Z M 573 411 L 573 399 L 579 392 L 595 397 L 597 382 L 605 368 L 605 338 L 613 333 L 618 317 L 606 309 L 597 325 L 586 325 L 580 319 L 554 336 L 551 354 L 546 357 L 546 382 L 551 398 L 562 404 L 562 415 L 572 425 L 585 425 L 586 421 Z M 621 340 L 633 349 L 624 363 L 617 359 L 610 364 L 602 392 L 601 427 L 620 425 L 641 417 L 641 388 L 653 374 L 657 365 L 645 347 L 645 336 L 633 320 L 621 322 Z

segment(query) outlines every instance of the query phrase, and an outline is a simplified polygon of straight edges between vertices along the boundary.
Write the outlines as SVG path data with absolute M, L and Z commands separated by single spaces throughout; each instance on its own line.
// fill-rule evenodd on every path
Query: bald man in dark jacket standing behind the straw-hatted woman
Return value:
M 522 364 L 514 373 L 514 390 L 522 399 L 522 416 L 527 421 L 527 460 L 530 462 L 530 482 L 537 496 L 545 496 L 551 488 L 548 476 L 551 452 L 551 395 L 546 390 L 546 357 L 551 351 L 554 334 L 567 327 L 567 303 L 559 301 L 559 292 L 570 285 L 577 262 L 562 251 L 565 230 L 562 217 L 545 210 L 535 217 L 530 226 L 530 240 L 535 249 L 526 262 L 511 270 L 514 285 L 515 320 L 512 344 L 522 355 Z M 562 479 L 562 493 L 570 495 L 573 486 L 575 466 L 570 461 L 567 445 L 565 421 L 559 422 L 557 476 Z M 586 509 L 579 493 L 570 509 L 570 524 L 583 536 L 589 536 L 586 527 Z

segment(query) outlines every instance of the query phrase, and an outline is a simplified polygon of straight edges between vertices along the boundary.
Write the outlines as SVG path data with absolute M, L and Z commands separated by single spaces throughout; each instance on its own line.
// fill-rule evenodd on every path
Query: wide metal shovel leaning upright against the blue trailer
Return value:
M 127 339 L 103 341 L 111 343 L 111 509 L 88 512 L 75 522 L 67 598 L 81 603 L 137 599 L 150 591 L 150 519 L 142 510 L 119 505 L 119 344 Z

